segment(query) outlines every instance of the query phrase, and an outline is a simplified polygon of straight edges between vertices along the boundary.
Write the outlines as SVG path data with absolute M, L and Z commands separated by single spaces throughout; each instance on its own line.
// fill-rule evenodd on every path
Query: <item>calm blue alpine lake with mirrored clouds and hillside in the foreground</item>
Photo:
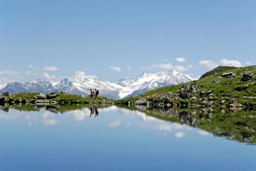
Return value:
M 256 111 L 0 106 L 0 170 L 255 170 Z

